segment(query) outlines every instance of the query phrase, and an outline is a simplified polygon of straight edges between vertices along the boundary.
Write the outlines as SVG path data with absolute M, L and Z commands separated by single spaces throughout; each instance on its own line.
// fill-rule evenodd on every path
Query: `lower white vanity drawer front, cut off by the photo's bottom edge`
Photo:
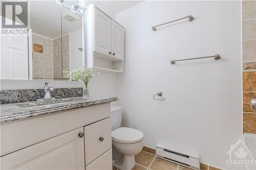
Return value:
M 112 149 L 86 166 L 86 170 L 112 170 Z

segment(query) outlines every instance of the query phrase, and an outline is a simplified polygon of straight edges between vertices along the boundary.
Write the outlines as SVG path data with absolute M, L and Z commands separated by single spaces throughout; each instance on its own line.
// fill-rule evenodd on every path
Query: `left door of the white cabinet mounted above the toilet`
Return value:
M 111 19 L 95 8 L 94 51 L 111 56 Z

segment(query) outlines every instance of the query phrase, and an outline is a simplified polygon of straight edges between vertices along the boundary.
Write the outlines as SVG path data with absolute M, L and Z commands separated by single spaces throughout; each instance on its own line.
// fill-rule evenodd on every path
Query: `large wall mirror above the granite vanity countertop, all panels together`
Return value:
M 24 36 L 14 38 L 23 40 L 23 46 L 20 46 L 24 48 L 21 49 L 23 53 L 12 53 L 12 56 L 1 53 L 1 66 L 12 65 L 8 70 L 1 67 L 1 79 L 67 80 L 63 70 L 73 69 L 83 63 L 83 3 L 83 1 L 28 1 L 30 33 L 26 38 Z M 1 47 L 9 48 L 9 46 Z M 21 54 L 22 58 L 19 56 Z M 11 61 L 11 58 L 19 58 L 20 61 Z M 2 72 L 6 74 L 3 75 Z M 15 75 L 12 72 L 15 72 Z

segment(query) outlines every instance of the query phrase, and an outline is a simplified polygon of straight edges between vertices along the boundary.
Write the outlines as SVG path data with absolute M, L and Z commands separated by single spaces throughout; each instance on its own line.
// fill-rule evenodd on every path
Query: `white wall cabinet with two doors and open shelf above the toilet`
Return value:
M 93 4 L 83 14 L 84 64 L 102 72 L 123 72 L 124 28 Z

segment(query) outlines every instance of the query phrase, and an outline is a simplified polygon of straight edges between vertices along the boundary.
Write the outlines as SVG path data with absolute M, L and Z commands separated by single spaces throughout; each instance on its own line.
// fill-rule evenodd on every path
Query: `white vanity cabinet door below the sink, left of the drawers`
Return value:
M 1 157 L 1 169 L 84 169 L 83 128 Z M 36 133 L 35 133 L 36 135 Z

